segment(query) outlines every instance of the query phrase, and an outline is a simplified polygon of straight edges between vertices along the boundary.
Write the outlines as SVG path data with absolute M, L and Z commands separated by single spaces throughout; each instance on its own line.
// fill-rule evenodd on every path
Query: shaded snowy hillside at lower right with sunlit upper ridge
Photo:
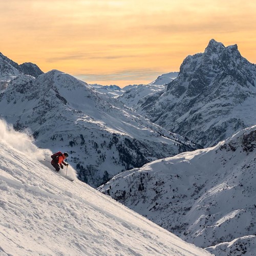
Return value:
M 128 170 L 98 189 L 218 256 L 256 253 L 256 125 L 215 147 Z

